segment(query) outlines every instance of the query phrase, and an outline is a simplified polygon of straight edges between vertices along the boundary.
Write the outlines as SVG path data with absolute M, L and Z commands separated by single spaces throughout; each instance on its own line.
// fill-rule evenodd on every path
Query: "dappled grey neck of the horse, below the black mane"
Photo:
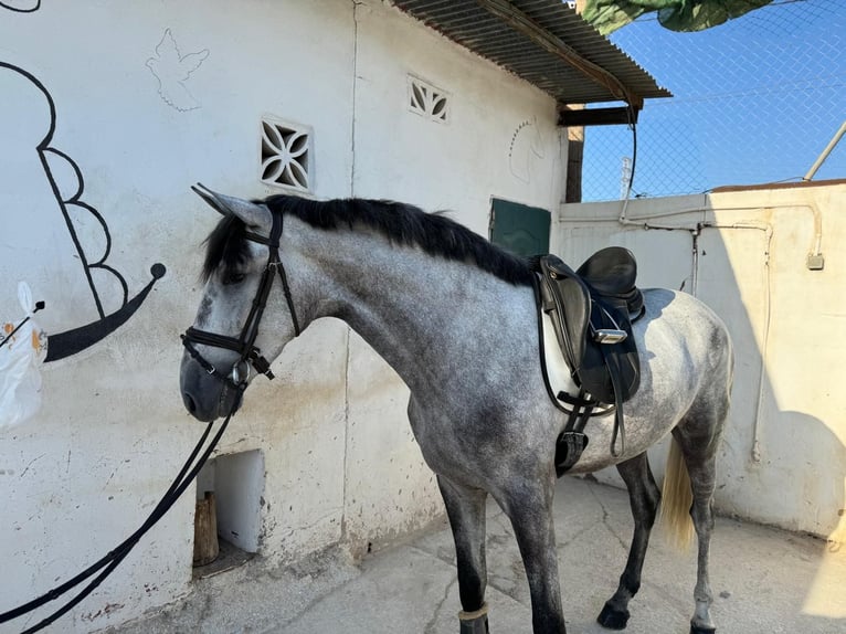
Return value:
M 308 249 L 324 277 L 316 316 L 343 319 L 412 390 L 484 372 L 480 350 L 493 359 L 537 328 L 528 286 L 371 232 L 319 233 Z

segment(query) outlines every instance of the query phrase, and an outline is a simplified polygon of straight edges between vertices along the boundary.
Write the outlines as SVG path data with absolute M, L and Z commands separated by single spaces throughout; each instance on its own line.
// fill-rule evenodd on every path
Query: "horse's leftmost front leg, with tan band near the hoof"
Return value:
M 446 515 L 455 540 L 458 567 L 458 595 L 462 612 L 458 615 L 461 634 L 486 634 L 488 632 L 485 589 L 487 564 L 485 562 L 485 500 L 482 489 L 458 485 L 437 476 L 437 485 L 446 505 Z

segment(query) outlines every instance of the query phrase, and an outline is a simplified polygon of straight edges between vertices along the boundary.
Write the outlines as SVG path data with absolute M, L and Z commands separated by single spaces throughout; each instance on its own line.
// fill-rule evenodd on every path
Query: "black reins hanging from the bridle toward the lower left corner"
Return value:
M 103 582 L 103 580 L 106 579 L 106 577 L 108 577 L 112 573 L 112 571 L 115 570 L 115 568 L 117 568 L 120 564 L 120 562 L 126 558 L 126 556 L 129 554 L 129 552 L 135 547 L 135 545 L 138 543 L 141 537 L 144 537 L 147 533 L 147 531 L 149 531 L 150 528 L 152 528 L 156 525 L 156 522 L 158 522 L 165 516 L 165 514 L 168 510 L 170 510 L 173 504 L 181 497 L 184 490 L 191 485 L 191 483 L 197 477 L 197 474 L 200 473 L 200 469 L 203 467 L 205 462 L 209 459 L 209 456 L 211 456 L 212 452 L 218 446 L 218 442 L 220 442 L 220 438 L 223 436 L 223 432 L 226 431 L 226 426 L 229 425 L 230 419 L 232 419 L 234 409 L 235 408 L 233 406 L 232 411 L 230 411 L 229 415 L 226 415 L 226 419 L 223 421 L 223 424 L 221 425 L 220 430 L 218 430 L 218 433 L 214 434 L 214 436 L 212 437 L 211 444 L 205 448 L 203 454 L 200 456 L 199 462 L 197 462 L 197 464 L 194 464 L 192 468 L 191 465 L 194 463 L 203 444 L 205 444 L 205 440 L 209 437 L 209 434 L 214 423 L 212 422 L 207 425 L 205 431 L 200 436 L 200 441 L 197 443 L 197 446 L 194 446 L 193 451 L 191 452 L 191 455 L 188 457 L 184 465 L 182 465 L 182 468 L 180 469 L 179 474 L 173 479 L 170 487 L 162 496 L 161 500 L 159 500 L 159 503 L 156 505 L 156 508 L 152 509 L 150 515 L 147 517 L 147 519 L 144 521 L 140 528 L 138 528 L 138 530 L 136 530 L 133 535 L 126 538 L 120 545 L 118 545 L 115 549 L 109 551 L 99 561 L 89 566 L 80 574 L 74 577 L 73 579 L 65 581 L 61 585 L 57 585 L 56 588 L 42 594 L 38 599 L 33 599 L 32 601 L 23 603 L 22 605 L 19 605 L 18 607 L 14 607 L 12 610 L 9 610 L 8 612 L 3 612 L 2 614 L 0 614 L 0 623 L 6 623 L 7 621 L 12 621 L 13 619 L 18 619 L 22 616 L 23 614 L 32 612 L 33 610 L 36 610 L 41 607 L 42 605 L 59 599 L 60 596 L 67 593 L 73 588 L 76 588 L 77 585 L 80 585 L 86 579 L 89 579 L 91 577 L 93 577 L 99 570 L 103 570 L 76 596 L 71 599 L 62 607 L 53 612 L 50 616 L 47 616 L 43 621 L 39 622 L 36 625 L 33 625 L 32 627 L 24 630 L 22 634 L 38 632 L 39 630 L 46 627 L 47 625 L 53 623 L 56 619 L 70 612 L 76 604 L 78 604 L 83 599 L 85 599 L 88 594 L 91 594 Z

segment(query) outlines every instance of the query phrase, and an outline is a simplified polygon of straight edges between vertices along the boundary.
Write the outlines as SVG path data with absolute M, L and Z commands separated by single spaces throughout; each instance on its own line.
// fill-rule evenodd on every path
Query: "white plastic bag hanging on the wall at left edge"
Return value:
M 25 282 L 18 283 L 18 299 L 24 318 L 0 324 L 0 429 L 24 422 L 41 406 L 39 366 L 47 356 L 47 337 L 32 319 L 39 307 Z

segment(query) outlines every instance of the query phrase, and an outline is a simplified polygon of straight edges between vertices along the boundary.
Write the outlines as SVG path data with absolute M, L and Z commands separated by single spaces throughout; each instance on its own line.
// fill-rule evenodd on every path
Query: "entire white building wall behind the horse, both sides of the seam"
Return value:
M 182 86 L 190 95 L 181 110 L 162 98 L 146 65 L 167 30 L 181 55 L 204 56 Z M 188 188 L 202 181 L 244 197 L 271 193 L 258 182 L 262 115 L 313 127 L 320 198 L 452 208 L 485 234 L 491 196 L 550 210 L 560 198 L 552 99 L 376 0 L 80 0 L 32 13 L 0 7 L 0 62 L 31 73 L 52 96 L 50 145 L 78 166 L 80 198 L 105 220 L 106 263 L 129 295 L 149 282 L 154 263 L 167 267 L 126 325 L 43 367 L 44 405 L 34 420 L 0 430 L 0 611 L 133 532 L 199 437 L 203 427 L 178 394 L 178 335 L 193 319 L 200 242 L 216 218 Z M 409 72 L 451 93 L 448 125 L 408 112 Z M 178 87 L 169 91 L 173 103 Z M 47 302 L 41 324 L 61 332 L 96 319 L 96 310 L 39 172 L 33 139 L 49 124 L 39 99 L 35 91 L 0 102 L 0 319 L 18 316 L 15 283 L 27 278 Z M 21 140 L 14 130 L 27 134 Z M 2 145 L 9 138 L 20 140 L 14 151 Z M 72 197 L 73 170 L 59 160 L 54 176 Z M 85 247 L 102 252 L 98 223 L 82 213 L 77 220 Z M 52 260 L 42 266 L 45 254 Z M 99 282 L 108 313 L 119 296 L 107 275 Z M 314 324 L 274 371 L 275 381 L 251 387 L 216 454 L 262 452 L 260 553 L 268 564 L 339 541 L 358 550 L 441 513 L 405 420 L 404 387 L 345 325 Z M 190 592 L 193 498 L 183 496 L 108 581 L 49 631 L 98 630 Z

